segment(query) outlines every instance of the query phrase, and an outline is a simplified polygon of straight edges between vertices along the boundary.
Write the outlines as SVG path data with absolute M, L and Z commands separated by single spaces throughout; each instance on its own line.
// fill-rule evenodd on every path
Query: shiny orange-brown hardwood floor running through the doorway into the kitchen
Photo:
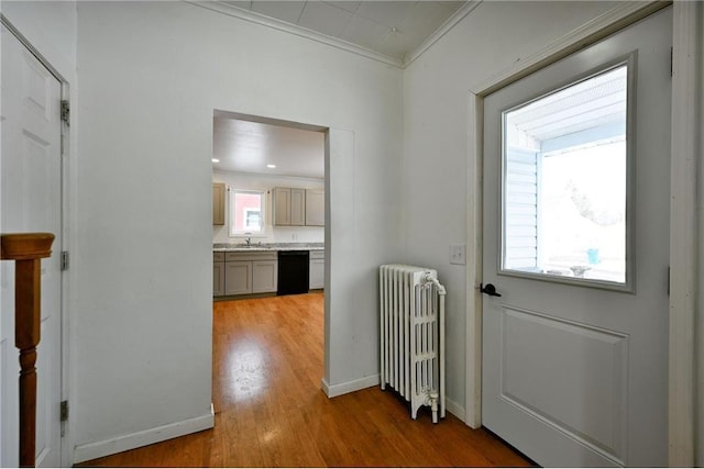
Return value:
M 213 303 L 213 429 L 86 462 L 128 467 L 529 466 L 453 415 L 433 425 L 378 387 L 328 399 L 323 297 Z

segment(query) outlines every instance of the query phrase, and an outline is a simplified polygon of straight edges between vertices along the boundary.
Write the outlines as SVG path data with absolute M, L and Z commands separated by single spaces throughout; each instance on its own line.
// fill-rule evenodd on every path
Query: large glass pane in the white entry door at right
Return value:
M 503 269 L 626 282 L 627 67 L 504 112 Z

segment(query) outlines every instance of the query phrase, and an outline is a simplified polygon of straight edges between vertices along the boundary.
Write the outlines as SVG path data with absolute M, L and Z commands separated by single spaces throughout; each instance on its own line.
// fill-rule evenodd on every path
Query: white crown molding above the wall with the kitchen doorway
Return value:
M 200 7 L 206 10 L 215 11 L 217 13 L 227 14 L 228 16 L 238 18 L 240 20 L 248 21 L 250 23 L 260 24 L 262 26 L 271 27 L 273 30 L 282 31 L 288 34 L 293 34 L 299 37 L 305 37 L 310 41 L 315 41 L 321 44 L 329 45 L 342 51 L 350 52 L 352 54 L 360 55 L 362 57 L 371 58 L 372 60 L 381 62 L 382 64 L 391 65 L 397 68 L 404 68 L 404 60 L 395 58 L 385 54 L 381 54 L 365 47 L 358 46 L 343 40 L 328 36 L 326 34 L 318 33 L 312 30 L 308 30 L 302 26 L 298 26 L 285 21 L 276 20 L 274 18 L 265 16 L 263 14 L 242 10 L 240 8 L 223 3 L 219 0 L 209 1 L 194 1 L 185 0 L 186 3 L 194 7 Z

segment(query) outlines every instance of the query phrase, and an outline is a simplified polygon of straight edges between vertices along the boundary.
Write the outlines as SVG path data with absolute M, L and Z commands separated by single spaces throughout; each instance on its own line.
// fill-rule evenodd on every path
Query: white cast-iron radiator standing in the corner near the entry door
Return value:
M 380 267 L 381 381 L 421 405 L 432 422 L 444 417 L 444 287 L 433 269 L 391 264 Z

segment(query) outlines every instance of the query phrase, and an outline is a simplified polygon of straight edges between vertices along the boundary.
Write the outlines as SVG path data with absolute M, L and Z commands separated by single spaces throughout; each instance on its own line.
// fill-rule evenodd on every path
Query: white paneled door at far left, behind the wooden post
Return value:
M 62 378 L 61 82 L 4 26 L 1 97 L 1 225 L 3 233 L 50 232 L 42 259 L 37 347 L 36 465 L 59 467 Z M 19 464 L 19 361 L 14 346 L 14 263 L 1 264 L 0 367 L 3 467 Z

